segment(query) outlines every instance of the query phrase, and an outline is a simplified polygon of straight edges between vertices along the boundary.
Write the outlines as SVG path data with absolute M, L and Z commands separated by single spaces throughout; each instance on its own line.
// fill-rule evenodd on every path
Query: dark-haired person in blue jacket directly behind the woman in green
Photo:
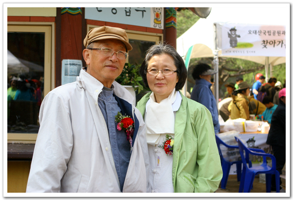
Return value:
M 192 67 L 192 66 L 191 66 Z M 190 99 L 195 100 L 209 109 L 212 117 L 215 133 L 220 132 L 219 114 L 217 108 L 217 102 L 213 96 L 210 86 L 211 75 L 218 73 L 211 69 L 208 64 L 199 63 L 194 66 L 192 77 L 195 80 L 195 85 L 192 89 Z

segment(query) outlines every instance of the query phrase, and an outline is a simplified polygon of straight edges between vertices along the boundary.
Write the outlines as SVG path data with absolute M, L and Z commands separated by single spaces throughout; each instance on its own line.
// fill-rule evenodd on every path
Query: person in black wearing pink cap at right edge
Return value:
M 276 158 L 276 170 L 282 174 L 282 169 L 286 163 L 286 88 L 279 92 L 279 105 L 272 114 L 271 127 L 266 143 L 272 146 L 273 156 Z M 276 191 L 274 175 L 272 175 L 272 191 Z M 280 187 L 280 192 L 286 191 Z

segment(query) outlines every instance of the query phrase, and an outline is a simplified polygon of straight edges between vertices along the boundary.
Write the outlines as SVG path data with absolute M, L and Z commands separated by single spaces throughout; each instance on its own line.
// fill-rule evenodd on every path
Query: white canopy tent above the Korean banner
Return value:
M 207 19 L 199 19 L 177 39 L 177 52 L 184 57 L 188 66 L 191 58 L 229 57 L 251 60 L 266 65 L 266 76 L 269 77 L 269 65 L 286 62 L 285 57 L 266 56 L 222 56 L 221 50 L 215 47 L 214 23 L 241 23 L 262 25 L 285 25 L 290 13 L 285 12 L 281 4 L 217 4 L 213 6 Z M 271 74 L 272 76 L 272 74 Z M 218 100 L 218 74 L 216 82 L 216 100 Z

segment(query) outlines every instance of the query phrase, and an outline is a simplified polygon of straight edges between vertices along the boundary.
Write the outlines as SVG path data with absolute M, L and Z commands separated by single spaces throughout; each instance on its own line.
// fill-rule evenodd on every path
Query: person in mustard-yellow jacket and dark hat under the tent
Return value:
M 249 100 L 248 96 L 250 93 L 250 85 L 243 81 L 239 83 L 239 88 L 234 90 L 237 93 L 237 96 L 232 95 L 233 100 L 230 102 L 228 106 L 228 110 L 230 111 L 231 120 L 243 118 L 246 120 L 250 120 L 250 109 L 249 109 Z

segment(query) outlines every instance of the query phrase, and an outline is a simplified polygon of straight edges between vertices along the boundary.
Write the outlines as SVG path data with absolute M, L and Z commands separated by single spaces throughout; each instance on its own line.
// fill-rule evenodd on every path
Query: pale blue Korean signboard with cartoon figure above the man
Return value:
M 107 8 L 95 7 L 85 8 L 84 17 L 88 20 L 109 21 L 150 28 L 164 28 L 164 9 L 163 7 L 123 7 Z

